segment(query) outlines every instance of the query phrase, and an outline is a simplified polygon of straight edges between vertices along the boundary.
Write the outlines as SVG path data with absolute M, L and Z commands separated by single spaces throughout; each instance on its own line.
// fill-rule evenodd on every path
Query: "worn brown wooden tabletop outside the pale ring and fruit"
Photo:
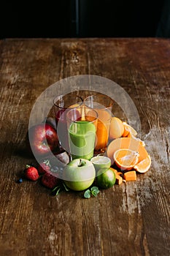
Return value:
M 170 40 L 5 39 L 0 42 L 0 255 L 169 255 Z M 115 81 L 134 101 L 152 158 L 137 181 L 58 197 L 16 183 L 32 161 L 22 148 L 31 108 L 72 75 Z

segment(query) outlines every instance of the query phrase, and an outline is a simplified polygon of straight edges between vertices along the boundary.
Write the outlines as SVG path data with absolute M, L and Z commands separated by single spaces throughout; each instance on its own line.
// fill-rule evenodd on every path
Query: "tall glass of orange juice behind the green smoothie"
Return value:
M 98 113 L 95 155 L 102 154 L 107 150 L 113 103 L 110 97 L 101 93 L 90 95 L 84 99 L 84 105 Z

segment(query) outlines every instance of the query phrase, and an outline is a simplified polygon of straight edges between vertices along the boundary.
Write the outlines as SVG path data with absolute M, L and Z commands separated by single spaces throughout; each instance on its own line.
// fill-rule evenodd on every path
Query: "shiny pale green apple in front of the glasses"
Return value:
M 81 191 L 93 184 L 96 175 L 93 163 L 87 159 L 74 159 L 63 168 L 63 180 L 69 189 Z

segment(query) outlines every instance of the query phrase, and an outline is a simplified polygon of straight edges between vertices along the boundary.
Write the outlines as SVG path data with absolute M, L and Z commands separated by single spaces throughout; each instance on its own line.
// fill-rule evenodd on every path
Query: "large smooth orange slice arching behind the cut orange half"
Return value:
M 107 147 L 107 157 L 111 159 L 111 165 L 114 162 L 113 154 L 120 148 L 131 149 L 139 153 L 139 162 L 148 156 L 147 150 L 142 146 L 139 140 L 134 140 L 134 138 L 118 138 L 112 140 Z

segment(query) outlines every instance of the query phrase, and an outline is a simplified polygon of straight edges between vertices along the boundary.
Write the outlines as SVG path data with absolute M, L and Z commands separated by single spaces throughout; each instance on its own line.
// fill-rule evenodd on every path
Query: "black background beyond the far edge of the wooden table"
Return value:
M 0 37 L 166 37 L 158 31 L 166 1 L 6 0 Z

